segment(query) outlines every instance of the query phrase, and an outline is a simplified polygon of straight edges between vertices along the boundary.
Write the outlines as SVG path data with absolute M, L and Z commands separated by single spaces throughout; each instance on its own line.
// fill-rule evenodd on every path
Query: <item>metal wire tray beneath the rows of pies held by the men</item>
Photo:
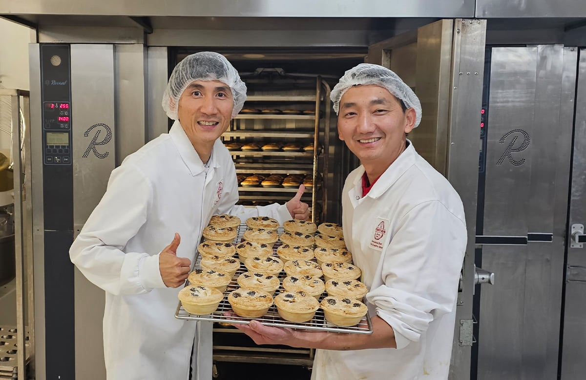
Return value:
M 246 231 L 246 229 L 247 229 L 246 224 L 240 224 L 240 226 L 238 227 L 238 235 L 237 235 L 236 239 L 234 239 L 234 244 L 239 244 L 242 241 L 242 234 L 244 233 L 244 231 Z M 283 233 L 283 228 L 279 227 L 277 232 L 278 232 L 278 234 Z M 277 241 L 277 243 L 275 243 L 274 247 L 272 248 L 273 255 L 277 255 L 277 248 L 281 244 L 282 244 L 282 242 L 280 240 Z M 199 253 L 196 253 L 195 267 L 199 267 L 199 261 L 200 261 Z M 175 318 L 183 319 L 183 320 L 201 320 L 201 321 L 205 321 L 205 322 L 220 322 L 220 323 L 234 323 L 234 324 L 239 324 L 239 323 L 240 324 L 247 324 L 251 320 L 254 319 L 254 320 L 258 320 L 258 321 L 262 322 L 266 326 L 290 327 L 292 329 L 302 329 L 302 330 L 333 331 L 336 333 L 372 334 L 372 324 L 370 322 L 370 317 L 368 314 L 366 316 L 364 316 L 362 318 L 362 320 L 358 324 L 356 324 L 355 326 L 338 326 L 336 324 L 329 323 L 328 321 L 326 321 L 325 317 L 323 316 L 323 310 L 321 308 L 315 312 L 315 316 L 311 320 L 309 320 L 308 322 L 302 322 L 302 323 L 289 322 L 287 320 L 282 319 L 279 316 L 279 314 L 277 312 L 277 306 L 275 306 L 274 304 L 268 309 L 267 314 L 265 314 L 264 316 L 262 316 L 260 318 L 245 318 L 245 317 L 240 317 L 237 315 L 230 315 L 230 316 L 224 315 L 224 313 L 231 312 L 231 310 L 232 310 L 230 303 L 227 300 L 227 295 L 231 291 L 234 291 L 237 288 L 239 288 L 239 285 L 237 284 L 236 279 L 239 277 L 239 275 L 241 275 L 247 271 L 248 270 L 246 269 L 246 267 L 244 267 L 244 263 L 241 264 L 240 269 L 236 271 L 236 274 L 234 274 L 234 277 L 232 277 L 232 281 L 230 282 L 230 284 L 228 284 L 228 288 L 226 289 L 226 291 L 224 291 L 224 298 L 220 302 L 220 305 L 218 306 L 216 311 L 213 312 L 212 314 L 207 314 L 207 315 L 190 314 L 185 309 L 183 309 L 183 307 L 181 306 L 181 302 L 178 302 L 177 309 L 175 310 Z M 282 271 L 278 275 L 278 277 L 279 277 L 281 284 L 282 284 L 282 280 L 285 277 L 287 277 L 287 274 L 285 274 L 285 272 Z M 322 280 L 323 280 L 323 278 L 322 278 Z M 188 286 L 188 285 L 189 285 L 188 281 L 186 281 L 185 286 Z M 274 296 L 277 296 L 278 293 L 284 292 L 284 291 L 285 290 L 282 288 L 282 285 L 281 285 L 277 289 L 277 291 L 275 292 Z M 321 302 L 321 300 L 326 295 L 327 295 L 327 293 L 324 292 L 320 296 L 319 301 Z

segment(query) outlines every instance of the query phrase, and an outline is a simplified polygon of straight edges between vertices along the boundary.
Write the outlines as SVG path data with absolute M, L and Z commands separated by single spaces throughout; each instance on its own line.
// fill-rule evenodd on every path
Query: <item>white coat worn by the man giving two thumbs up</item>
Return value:
M 71 262 L 105 291 L 104 356 L 108 380 L 212 378 L 212 327 L 175 319 L 180 288 L 167 288 L 159 253 L 178 232 L 178 257 L 193 261 L 214 214 L 242 220 L 291 219 L 285 205 L 244 208 L 236 170 L 220 140 L 206 170 L 176 121 L 168 134 L 125 158 L 70 248 Z

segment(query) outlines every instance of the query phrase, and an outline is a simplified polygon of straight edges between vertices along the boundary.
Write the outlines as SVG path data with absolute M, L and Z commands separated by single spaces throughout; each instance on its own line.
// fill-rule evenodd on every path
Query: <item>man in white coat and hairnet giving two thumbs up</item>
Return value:
M 194 339 L 194 375 L 211 379 L 211 324 L 174 317 L 204 227 L 223 213 L 308 217 L 302 186 L 286 205 L 235 206 L 236 170 L 219 137 L 245 99 L 246 85 L 222 55 L 181 61 L 163 95 L 171 130 L 112 172 L 70 248 L 71 261 L 105 291 L 108 379 L 187 379 Z

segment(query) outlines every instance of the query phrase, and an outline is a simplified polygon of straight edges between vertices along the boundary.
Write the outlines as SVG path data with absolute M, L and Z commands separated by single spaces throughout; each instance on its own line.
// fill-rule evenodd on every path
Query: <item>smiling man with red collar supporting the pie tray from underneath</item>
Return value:
M 346 178 L 342 224 L 369 287 L 373 333 L 236 326 L 258 344 L 318 348 L 312 379 L 447 379 L 466 247 L 462 202 L 406 139 L 421 105 L 393 71 L 357 65 L 331 98 L 339 138 L 362 163 Z

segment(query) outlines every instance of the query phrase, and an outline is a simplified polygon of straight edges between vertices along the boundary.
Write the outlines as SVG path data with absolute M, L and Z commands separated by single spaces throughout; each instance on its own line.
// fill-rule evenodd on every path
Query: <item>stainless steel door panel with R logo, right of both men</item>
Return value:
M 492 49 L 484 235 L 528 232 L 536 65 L 537 47 Z

